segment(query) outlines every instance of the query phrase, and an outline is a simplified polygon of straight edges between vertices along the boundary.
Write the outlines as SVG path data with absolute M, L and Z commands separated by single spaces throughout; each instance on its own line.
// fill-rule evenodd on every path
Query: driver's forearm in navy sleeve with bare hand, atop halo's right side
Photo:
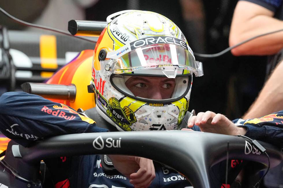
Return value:
M 188 127 L 200 127 L 203 132 L 245 135 L 283 148 L 283 110 L 255 119 L 238 119 L 235 124 L 222 114 L 211 111 L 198 113 L 188 121 Z

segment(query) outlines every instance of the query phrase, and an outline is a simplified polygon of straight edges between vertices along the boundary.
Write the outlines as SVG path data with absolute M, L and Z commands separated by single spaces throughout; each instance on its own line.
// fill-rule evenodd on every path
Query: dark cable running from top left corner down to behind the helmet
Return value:
M 5 14 L 6 16 L 8 16 L 8 18 L 11 18 L 12 20 L 18 22 L 19 24 L 22 24 L 22 25 L 25 25 L 25 26 L 31 26 L 31 27 L 35 27 L 35 28 L 46 29 L 46 30 L 49 30 L 49 31 L 61 33 L 63 35 L 68 35 L 68 36 L 71 36 L 71 37 L 82 39 L 82 40 L 85 40 L 85 41 L 88 41 L 88 42 L 96 42 L 96 41 L 93 41 L 93 40 L 90 40 L 90 39 L 86 39 L 86 38 L 83 38 L 83 37 L 78 37 L 78 36 L 75 36 L 75 35 L 71 35 L 70 33 L 66 32 L 66 31 L 62 31 L 62 30 L 59 30 L 59 29 L 54 29 L 52 27 L 47 27 L 47 26 L 42 26 L 42 25 L 37 25 L 37 24 L 32 24 L 32 23 L 29 23 L 29 22 L 25 22 L 23 20 L 20 20 L 20 19 L 18 19 L 16 17 L 12 16 L 11 14 L 6 12 L 1 7 L 0 7 L 0 11 L 3 12 L 3 14 Z

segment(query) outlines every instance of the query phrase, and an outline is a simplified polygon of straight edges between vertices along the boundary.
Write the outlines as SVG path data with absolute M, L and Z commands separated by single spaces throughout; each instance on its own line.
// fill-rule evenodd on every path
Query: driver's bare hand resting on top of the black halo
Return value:
M 226 116 L 211 111 L 200 112 L 198 115 L 192 116 L 188 121 L 188 127 L 192 128 L 194 125 L 199 126 L 203 132 L 218 134 L 244 135 L 247 132 L 245 128 L 237 127 Z

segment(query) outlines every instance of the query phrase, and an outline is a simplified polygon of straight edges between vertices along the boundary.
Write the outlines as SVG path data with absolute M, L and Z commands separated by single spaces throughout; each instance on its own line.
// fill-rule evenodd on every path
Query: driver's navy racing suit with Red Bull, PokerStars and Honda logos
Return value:
M 275 115 L 275 114 L 273 114 Z M 241 120 L 237 123 L 247 128 L 247 136 L 282 147 L 283 112 L 272 116 L 272 120 Z M 277 122 L 277 118 L 279 118 Z M 264 122 L 264 123 L 262 123 Z M 280 125 L 277 125 L 280 124 Z M 263 125 L 264 124 L 264 125 Z M 266 126 L 268 125 L 268 126 Z M 106 132 L 96 126 L 95 121 L 79 114 L 74 109 L 40 96 L 24 92 L 8 92 L 0 97 L 0 130 L 16 141 L 28 146 L 34 140 L 62 134 Z M 199 130 L 195 127 L 194 130 Z M 251 132 L 259 130 L 253 135 Z M 272 139 L 271 139 L 272 136 Z M 174 160 L 174 159 L 172 159 Z M 111 166 L 106 155 L 84 155 L 60 157 L 44 161 L 51 171 L 55 187 L 133 187 L 129 180 Z M 176 160 L 176 162 L 179 162 Z M 232 160 L 229 164 L 228 182 L 232 182 L 242 169 L 244 162 Z M 154 162 L 156 178 L 150 187 L 190 187 L 190 183 L 178 172 Z M 225 182 L 226 161 L 210 169 L 211 185 L 220 188 Z

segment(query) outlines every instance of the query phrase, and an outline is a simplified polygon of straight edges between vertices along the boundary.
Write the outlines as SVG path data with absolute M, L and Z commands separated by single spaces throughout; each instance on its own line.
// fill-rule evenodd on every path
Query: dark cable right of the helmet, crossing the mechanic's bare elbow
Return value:
M 234 46 L 231 46 L 231 47 L 229 47 L 229 48 L 226 48 L 225 50 L 223 50 L 223 51 L 221 51 L 221 52 L 218 52 L 218 53 L 216 53 L 216 54 L 199 54 L 199 53 L 195 53 L 195 52 L 193 52 L 193 54 L 194 54 L 195 56 L 204 57 L 204 58 L 215 58 L 215 57 L 219 57 L 219 56 L 221 56 L 221 55 L 223 55 L 223 54 L 229 52 L 229 51 L 232 50 L 233 48 L 236 48 L 236 47 L 238 47 L 239 45 L 242 45 L 242 44 L 244 44 L 244 43 L 246 43 L 246 42 L 248 42 L 248 41 L 251 41 L 251 40 L 253 40 L 253 39 L 256 39 L 256 38 L 258 38 L 258 37 L 262 37 L 262 36 L 265 36 L 265 35 L 270 35 L 270 34 L 273 34 L 273 33 L 277 33 L 277 32 L 280 32 L 280 31 L 283 31 L 283 29 L 276 30 L 276 31 L 271 31 L 271 32 L 268 32 L 268 33 L 264 33 L 264 34 L 261 34 L 261 35 L 257 35 L 257 36 L 251 37 L 251 38 L 249 38 L 249 39 L 247 39 L 247 40 L 245 40 L 245 41 L 243 41 L 243 42 L 240 42 L 240 43 L 238 43 L 238 44 L 236 44 L 236 45 L 234 45 Z

